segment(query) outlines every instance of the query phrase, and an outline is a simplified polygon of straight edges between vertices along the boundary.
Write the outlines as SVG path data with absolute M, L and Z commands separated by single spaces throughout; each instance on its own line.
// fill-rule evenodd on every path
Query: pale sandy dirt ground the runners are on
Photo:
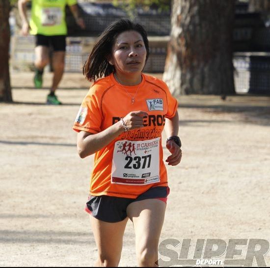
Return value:
M 65 74 L 64 105 L 52 107 L 31 79 L 13 73 L 15 103 L 0 104 L 0 265 L 91 267 L 97 250 L 83 208 L 93 157 L 78 157 L 71 129 L 89 85 Z M 179 113 L 183 160 L 168 167 L 161 241 L 269 240 L 270 97 L 186 96 Z M 120 266 L 136 266 L 130 221 Z

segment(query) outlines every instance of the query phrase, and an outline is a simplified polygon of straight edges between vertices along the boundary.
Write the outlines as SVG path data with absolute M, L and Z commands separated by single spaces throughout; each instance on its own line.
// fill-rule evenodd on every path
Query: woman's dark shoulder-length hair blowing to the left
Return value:
M 96 81 L 114 72 L 114 66 L 108 63 L 108 55 L 111 54 L 117 36 L 124 31 L 137 31 L 143 38 L 146 48 L 146 61 L 149 56 L 149 42 L 145 29 L 129 19 L 119 19 L 110 24 L 97 39 L 94 48 L 83 66 L 83 75 L 89 81 Z M 146 63 L 145 61 L 145 63 Z

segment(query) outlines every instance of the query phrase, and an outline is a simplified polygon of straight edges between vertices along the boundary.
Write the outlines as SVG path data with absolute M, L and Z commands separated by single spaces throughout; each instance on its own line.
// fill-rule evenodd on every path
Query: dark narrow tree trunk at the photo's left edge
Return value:
M 0 1 L 0 102 L 12 102 L 9 80 L 9 0 Z

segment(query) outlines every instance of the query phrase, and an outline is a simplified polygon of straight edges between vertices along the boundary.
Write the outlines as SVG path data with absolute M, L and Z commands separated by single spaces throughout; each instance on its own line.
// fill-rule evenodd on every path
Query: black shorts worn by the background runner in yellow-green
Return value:
M 65 35 L 36 35 L 36 47 L 45 46 L 52 47 L 54 51 L 66 51 L 66 36 Z

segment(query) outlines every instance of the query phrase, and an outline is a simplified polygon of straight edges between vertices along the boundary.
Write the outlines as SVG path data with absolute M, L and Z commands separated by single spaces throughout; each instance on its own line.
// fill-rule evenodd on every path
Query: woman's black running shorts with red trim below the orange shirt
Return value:
M 129 204 L 152 198 L 160 199 L 166 203 L 169 192 L 169 187 L 158 186 L 148 189 L 135 199 L 108 195 L 90 195 L 86 203 L 85 211 L 99 220 L 119 222 L 127 217 L 127 207 Z

